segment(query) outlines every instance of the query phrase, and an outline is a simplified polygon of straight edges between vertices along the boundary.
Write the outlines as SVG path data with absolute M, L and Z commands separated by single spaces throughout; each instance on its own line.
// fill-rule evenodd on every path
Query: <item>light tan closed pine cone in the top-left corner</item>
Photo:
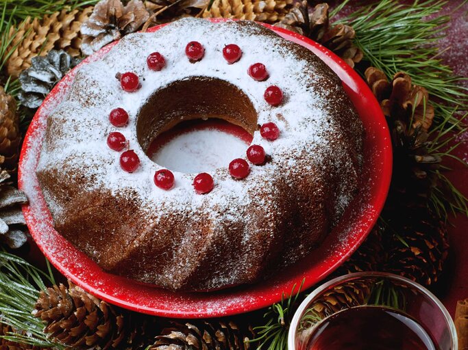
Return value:
M 64 50 L 72 57 L 81 56 L 79 28 L 92 11 L 93 6 L 83 10 L 64 9 L 42 19 L 28 17 L 12 27 L 8 36 L 11 42 L 3 57 L 8 75 L 19 77 L 31 66 L 32 57 L 47 55 L 52 49 Z

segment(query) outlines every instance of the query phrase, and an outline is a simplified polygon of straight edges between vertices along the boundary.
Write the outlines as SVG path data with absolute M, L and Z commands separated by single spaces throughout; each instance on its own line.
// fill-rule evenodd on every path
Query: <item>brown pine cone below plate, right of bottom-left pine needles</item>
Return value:
M 159 329 L 155 317 L 107 304 L 71 282 L 41 292 L 36 310 L 45 333 L 73 349 L 145 349 Z

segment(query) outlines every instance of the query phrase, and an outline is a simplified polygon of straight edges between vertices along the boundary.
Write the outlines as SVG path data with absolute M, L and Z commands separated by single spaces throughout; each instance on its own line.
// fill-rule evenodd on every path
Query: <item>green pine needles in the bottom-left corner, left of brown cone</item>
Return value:
M 42 321 L 32 314 L 40 291 L 46 289 L 45 283 L 54 283 L 51 270 L 45 273 L 4 251 L 0 252 L 0 266 L 1 323 L 18 331 L 3 338 L 37 347 L 64 349 L 47 339 Z

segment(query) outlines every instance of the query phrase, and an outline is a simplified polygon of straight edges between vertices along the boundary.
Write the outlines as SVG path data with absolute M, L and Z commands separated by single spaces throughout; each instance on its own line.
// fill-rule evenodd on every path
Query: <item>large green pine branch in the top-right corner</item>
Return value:
M 438 13 L 447 1 L 415 1 L 403 5 L 382 0 L 367 5 L 338 20 L 356 31 L 356 46 L 364 53 L 363 62 L 383 70 L 391 79 L 396 72 L 410 75 L 413 83 L 426 87 L 436 110 L 436 123 L 457 122 L 454 109 L 468 102 L 467 89 L 460 86 L 452 68 L 443 64 L 436 43 L 450 16 Z M 363 72 L 361 72 L 363 74 Z

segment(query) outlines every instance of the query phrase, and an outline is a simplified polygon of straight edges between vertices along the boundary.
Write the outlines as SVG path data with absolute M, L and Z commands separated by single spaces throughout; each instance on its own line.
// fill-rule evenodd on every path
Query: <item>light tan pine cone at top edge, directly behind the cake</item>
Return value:
M 214 0 L 204 18 L 238 18 L 276 23 L 291 10 L 293 0 Z

